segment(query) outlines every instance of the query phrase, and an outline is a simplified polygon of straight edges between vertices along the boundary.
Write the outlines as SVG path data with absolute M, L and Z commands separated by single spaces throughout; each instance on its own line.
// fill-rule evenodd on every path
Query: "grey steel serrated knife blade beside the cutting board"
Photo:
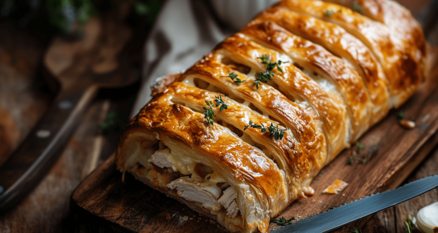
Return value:
M 327 212 L 300 220 L 273 233 L 325 233 L 354 220 L 399 204 L 438 187 L 438 175 L 426 177 L 391 191 L 367 196 Z

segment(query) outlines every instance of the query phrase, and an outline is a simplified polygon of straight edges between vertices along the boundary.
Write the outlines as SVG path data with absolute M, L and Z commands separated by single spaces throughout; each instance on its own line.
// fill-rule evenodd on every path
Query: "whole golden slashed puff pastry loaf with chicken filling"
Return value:
M 283 0 L 164 77 L 121 137 L 118 169 L 231 232 L 266 232 L 424 78 L 424 35 L 409 11 L 332 2 Z

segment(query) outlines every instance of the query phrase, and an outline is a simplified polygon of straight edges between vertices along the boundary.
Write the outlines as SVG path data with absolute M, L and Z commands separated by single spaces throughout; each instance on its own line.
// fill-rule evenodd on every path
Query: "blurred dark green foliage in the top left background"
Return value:
M 81 25 L 103 8 L 111 8 L 115 0 L 0 0 L 0 16 L 17 20 L 18 25 L 26 27 L 37 14 L 65 35 L 80 34 Z M 160 0 L 125 0 L 133 5 L 140 17 L 147 17 L 153 24 L 160 7 Z M 96 6 L 98 5 L 98 6 Z M 102 8 L 102 9 L 101 9 Z

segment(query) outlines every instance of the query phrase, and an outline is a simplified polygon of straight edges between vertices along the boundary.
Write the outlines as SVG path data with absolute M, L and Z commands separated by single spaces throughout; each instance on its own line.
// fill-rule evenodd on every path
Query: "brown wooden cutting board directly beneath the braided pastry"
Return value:
M 397 188 L 438 143 L 437 48 L 428 48 L 429 67 L 434 67 L 417 92 L 398 110 L 359 139 L 360 146 L 343 150 L 314 178 L 315 195 L 293 202 L 277 217 L 304 219 L 377 192 Z M 416 123 L 414 129 L 399 125 L 397 115 Z M 364 147 L 363 149 L 359 147 Z M 357 162 L 358 158 L 363 161 Z M 352 164 L 347 164 L 348 160 Z M 356 161 L 356 162 L 355 162 Z M 438 169 L 436 174 L 438 174 Z M 349 185 L 338 195 L 322 193 L 336 179 Z M 213 220 L 166 197 L 127 174 L 125 183 L 116 170 L 114 156 L 98 167 L 76 188 L 72 207 L 98 216 L 114 230 L 138 233 L 219 233 Z M 360 210 L 359 210 L 360 211 Z M 356 227 L 364 222 L 357 221 Z M 271 223 L 270 230 L 280 226 Z M 336 232 L 351 232 L 346 226 Z

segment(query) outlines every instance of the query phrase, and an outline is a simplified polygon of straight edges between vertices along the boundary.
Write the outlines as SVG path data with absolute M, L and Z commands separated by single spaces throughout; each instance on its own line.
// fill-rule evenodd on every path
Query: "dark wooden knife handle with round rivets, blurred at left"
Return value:
M 57 97 L 21 143 L 0 167 L 0 212 L 24 198 L 57 161 L 72 136 L 97 85 L 61 89 Z

